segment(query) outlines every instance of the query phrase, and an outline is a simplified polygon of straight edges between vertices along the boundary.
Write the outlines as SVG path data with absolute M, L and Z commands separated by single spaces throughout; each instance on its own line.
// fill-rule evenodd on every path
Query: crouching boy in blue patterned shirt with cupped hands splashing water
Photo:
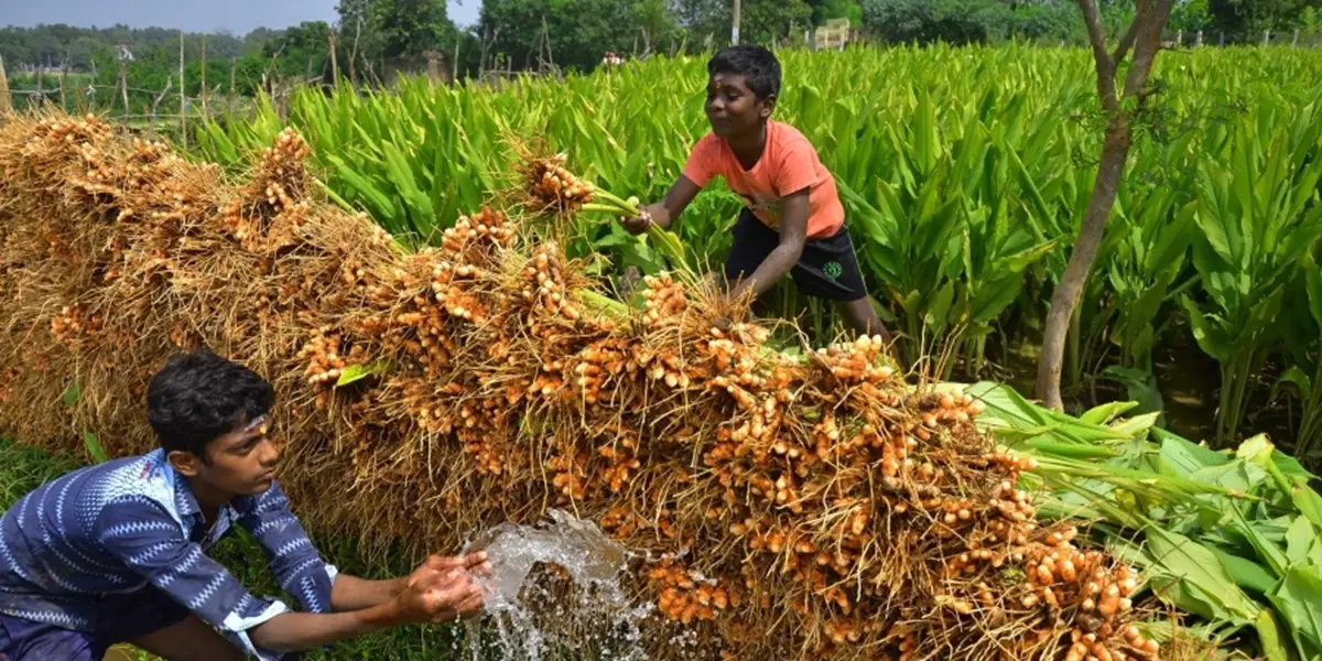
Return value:
M 297 658 L 389 627 L 476 615 L 484 554 L 431 557 L 412 574 L 340 574 L 275 484 L 275 393 L 202 350 L 147 393 L 160 449 L 83 468 L 0 518 L 0 658 L 100 661 L 130 642 L 168 661 Z M 206 550 L 241 526 L 305 612 L 247 592 Z

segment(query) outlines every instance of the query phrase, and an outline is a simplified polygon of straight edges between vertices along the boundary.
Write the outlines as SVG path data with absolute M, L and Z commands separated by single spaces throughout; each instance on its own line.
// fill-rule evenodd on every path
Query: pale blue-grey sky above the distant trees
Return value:
M 448 0 L 459 25 L 477 22 L 481 0 Z M 182 28 L 188 32 L 227 29 L 246 34 L 254 28 L 287 28 L 303 21 L 334 21 L 337 0 L 0 0 L 0 26 L 30 28 L 65 22 L 106 28 Z

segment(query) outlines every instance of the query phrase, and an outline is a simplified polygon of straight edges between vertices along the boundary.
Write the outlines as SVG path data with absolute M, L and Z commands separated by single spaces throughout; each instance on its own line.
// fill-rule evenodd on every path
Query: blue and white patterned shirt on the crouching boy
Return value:
M 309 612 L 330 611 L 336 568 L 321 562 L 279 485 L 235 498 L 206 529 L 188 481 L 163 451 L 83 468 L 16 502 L 0 518 L 0 613 L 97 631 L 98 596 L 155 586 L 250 656 L 247 631 L 288 611 L 258 599 L 205 551 L 243 526 L 280 587 Z

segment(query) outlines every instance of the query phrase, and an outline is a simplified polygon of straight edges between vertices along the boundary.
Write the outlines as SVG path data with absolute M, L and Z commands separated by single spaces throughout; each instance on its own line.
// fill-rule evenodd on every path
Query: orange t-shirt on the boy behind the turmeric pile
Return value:
M 789 124 L 767 122 L 767 147 L 761 159 L 747 171 L 728 143 L 707 134 L 689 155 L 683 176 L 702 188 L 717 175 L 773 230 L 780 230 L 780 200 L 805 188 L 810 189 L 808 238 L 834 237 L 845 225 L 845 208 L 839 204 L 834 177 L 804 134 Z

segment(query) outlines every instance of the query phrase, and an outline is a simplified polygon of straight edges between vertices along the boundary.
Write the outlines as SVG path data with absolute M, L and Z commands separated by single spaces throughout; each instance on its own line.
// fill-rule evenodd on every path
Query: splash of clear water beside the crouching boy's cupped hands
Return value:
M 620 587 L 631 553 L 590 521 L 551 509 L 541 526 L 501 524 L 476 535 L 464 553 L 486 551 L 492 575 L 480 578 L 486 595 L 485 617 L 467 624 L 472 661 L 493 658 L 542 661 L 559 648 L 598 648 L 592 658 L 646 661 L 639 623 L 650 605 L 635 607 Z M 535 568 L 554 566 L 572 580 L 572 590 L 551 591 Z M 485 639 L 493 650 L 484 653 Z M 588 639 L 588 640 L 579 640 Z M 588 658 L 588 657 L 580 657 Z

